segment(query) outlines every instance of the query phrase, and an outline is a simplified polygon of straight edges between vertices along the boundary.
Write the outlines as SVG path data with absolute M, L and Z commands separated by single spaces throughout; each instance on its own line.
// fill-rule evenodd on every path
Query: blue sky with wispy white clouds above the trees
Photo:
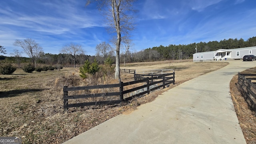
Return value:
M 0 45 L 8 54 L 16 39 L 32 38 L 45 53 L 59 54 L 70 42 L 85 54 L 109 42 L 104 16 L 86 0 L 1 0 Z M 132 52 L 154 46 L 247 40 L 256 36 L 256 0 L 138 0 Z M 122 51 L 122 50 L 121 50 Z M 23 54 L 26 56 L 25 54 Z

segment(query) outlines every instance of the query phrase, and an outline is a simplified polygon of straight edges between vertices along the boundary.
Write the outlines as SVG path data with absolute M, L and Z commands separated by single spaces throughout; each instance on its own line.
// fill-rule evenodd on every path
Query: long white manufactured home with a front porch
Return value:
M 219 49 L 211 52 L 198 52 L 193 54 L 193 62 L 213 60 L 236 60 L 245 55 L 256 55 L 256 46 L 235 49 Z

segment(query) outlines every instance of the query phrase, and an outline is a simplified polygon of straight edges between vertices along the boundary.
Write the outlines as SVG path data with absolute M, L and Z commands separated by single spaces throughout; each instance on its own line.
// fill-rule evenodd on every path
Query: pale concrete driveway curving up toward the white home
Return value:
M 256 62 L 226 62 L 230 64 L 184 82 L 64 144 L 246 144 L 229 83 Z

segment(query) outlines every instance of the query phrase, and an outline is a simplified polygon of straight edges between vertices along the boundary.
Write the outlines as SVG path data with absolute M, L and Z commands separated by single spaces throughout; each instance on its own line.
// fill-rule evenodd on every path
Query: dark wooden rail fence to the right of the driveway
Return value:
M 256 74 L 240 74 L 238 72 L 238 88 L 251 109 L 256 110 L 256 82 L 252 82 L 252 80 L 256 80 Z

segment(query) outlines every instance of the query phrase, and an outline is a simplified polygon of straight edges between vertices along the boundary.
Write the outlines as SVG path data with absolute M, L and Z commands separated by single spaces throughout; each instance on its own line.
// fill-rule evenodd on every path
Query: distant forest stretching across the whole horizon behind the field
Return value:
M 188 45 L 173 45 L 169 46 L 156 46 L 152 48 L 147 48 L 141 50 L 139 52 L 131 52 L 130 50 L 126 51 L 126 53 L 120 54 L 120 63 L 131 63 L 131 62 L 151 62 L 151 61 L 160 61 L 160 60 L 183 60 L 193 58 L 193 54 L 196 53 L 195 48 L 197 48 L 197 52 L 208 52 L 215 51 L 218 49 L 233 49 L 233 48 L 243 48 L 256 46 L 256 37 L 248 38 L 248 40 L 244 41 L 242 38 L 239 40 L 235 39 L 224 39 L 212 42 L 199 42 L 192 43 Z M 109 56 L 115 60 L 114 54 L 112 52 L 109 53 Z M 80 54 L 76 56 L 76 64 L 82 65 L 84 61 L 89 60 L 93 62 L 94 59 L 99 64 L 104 64 L 104 58 L 102 56 L 90 56 L 85 54 Z M 28 63 L 30 62 L 30 58 L 25 57 L 6 57 L 0 56 L 0 60 L 4 60 L 6 62 L 12 63 Z M 42 53 L 38 57 L 38 64 L 47 64 L 47 65 L 62 65 L 62 66 L 73 66 L 74 61 L 68 56 L 68 54 L 49 54 Z

